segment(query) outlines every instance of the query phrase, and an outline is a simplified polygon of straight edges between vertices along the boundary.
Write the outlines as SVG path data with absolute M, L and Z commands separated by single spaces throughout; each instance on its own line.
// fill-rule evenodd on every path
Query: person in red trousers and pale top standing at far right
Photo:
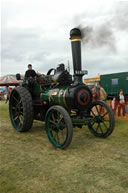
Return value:
M 123 90 L 120 89 L 119 94 L 117 95 L 118 101 L 118 116 L 121 115 L 121 109 L 123 111 L 123 117 L 125 117 L 125 96 L 123 94 Z

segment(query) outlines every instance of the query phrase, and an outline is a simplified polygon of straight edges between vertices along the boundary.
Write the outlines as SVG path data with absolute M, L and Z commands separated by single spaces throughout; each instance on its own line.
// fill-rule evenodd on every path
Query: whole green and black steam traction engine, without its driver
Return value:
M 102 101 L 92 103 L 92 92 L 82 82 L 81 32 L 70 31 L 74 80 L 60 64 L 47 75 L 29 78 L 15 87 L 10 96 L 9 112 L 13 127 L 19 132 L 31 129 L 33 120 L 45 121 L 50 142 L 66 148 L 72 141 L 73 127 L 87 125 L 93 135 L 107 137 L 114 129 L 114 116 Z M 53 71 L 53 72 L 52 72 Z M 19 74 L 17 78 L 20 79 Z

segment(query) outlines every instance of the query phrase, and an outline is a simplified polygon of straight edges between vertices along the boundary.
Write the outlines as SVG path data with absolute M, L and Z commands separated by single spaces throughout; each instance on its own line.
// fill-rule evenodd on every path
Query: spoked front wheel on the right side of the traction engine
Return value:
M 96 137 L 108 137 L 114 129 L 115 119 L 114 114 L 103 101 L 92 103 L 88 109 L 93 121 L 88 124 L 88 128 Z

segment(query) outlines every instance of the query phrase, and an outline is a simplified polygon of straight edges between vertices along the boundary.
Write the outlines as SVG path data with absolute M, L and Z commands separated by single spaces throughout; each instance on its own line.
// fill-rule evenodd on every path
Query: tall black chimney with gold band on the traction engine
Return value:
M 70 31 L 70 40 L 72 46 L 72 59 L 74 69 L 74 83 L 82 83 L 82 76 L 87 74 L 87 71 L 81 70 L 81 31 L 74 28 Z

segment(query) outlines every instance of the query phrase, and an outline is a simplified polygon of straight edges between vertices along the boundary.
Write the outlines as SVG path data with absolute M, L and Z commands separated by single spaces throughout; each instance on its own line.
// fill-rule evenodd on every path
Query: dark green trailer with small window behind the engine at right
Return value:
M 120 89 L 123 89 L 123 93 L 128 96 L 128 72 L 101 75 L 100 84 L 109 98 L 117 95 Z

